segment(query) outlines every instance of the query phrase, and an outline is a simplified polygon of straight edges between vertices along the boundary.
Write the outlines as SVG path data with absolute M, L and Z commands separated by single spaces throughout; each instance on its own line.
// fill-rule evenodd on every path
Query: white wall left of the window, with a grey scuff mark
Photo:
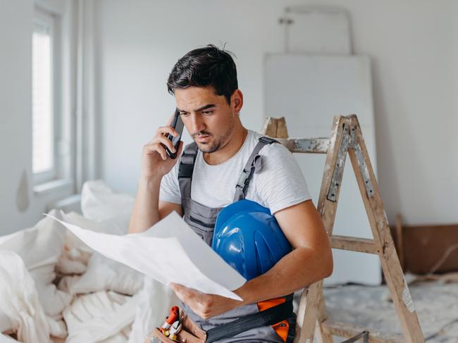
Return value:
M 57 9 L 68 5 L 51 2 Z M 67 188 L 38 196 L 32 190 L 33 4 L 0 0 L 0 235 L 34 225 L 47 204 L 73 192 Z

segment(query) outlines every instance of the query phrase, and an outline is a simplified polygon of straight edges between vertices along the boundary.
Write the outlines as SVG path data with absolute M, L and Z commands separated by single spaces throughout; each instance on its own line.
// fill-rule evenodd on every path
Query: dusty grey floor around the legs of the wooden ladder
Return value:
M 452 278 L 442 275 L 437 277 L 439 280 L 429 281 L 406 276 L 423 335 L 428 343 L 458 343 L 457 275 Z M 402 334 L 386 285 L 326 287 L 324 292 L 330 320 Z M 341 341 L 336 337 L 335 342 Z

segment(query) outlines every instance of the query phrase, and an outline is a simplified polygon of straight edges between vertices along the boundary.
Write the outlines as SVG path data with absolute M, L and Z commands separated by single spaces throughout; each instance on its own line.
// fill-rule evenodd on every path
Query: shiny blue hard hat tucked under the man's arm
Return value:
M 266 273 L 292 250 L 271 211 L 246 199 L 218 214 L 211 247 L 247 280 Z

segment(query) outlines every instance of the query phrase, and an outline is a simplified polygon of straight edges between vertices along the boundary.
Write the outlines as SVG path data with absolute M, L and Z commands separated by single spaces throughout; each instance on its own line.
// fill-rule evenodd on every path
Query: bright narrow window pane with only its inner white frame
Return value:
M 35 6 L 32 27 L 32 173 L 35 192 L 43 192 L 68 185 L 71 177 L 71 132 L 64 130 L 69 122 L 61 99 L 61 13 Z

